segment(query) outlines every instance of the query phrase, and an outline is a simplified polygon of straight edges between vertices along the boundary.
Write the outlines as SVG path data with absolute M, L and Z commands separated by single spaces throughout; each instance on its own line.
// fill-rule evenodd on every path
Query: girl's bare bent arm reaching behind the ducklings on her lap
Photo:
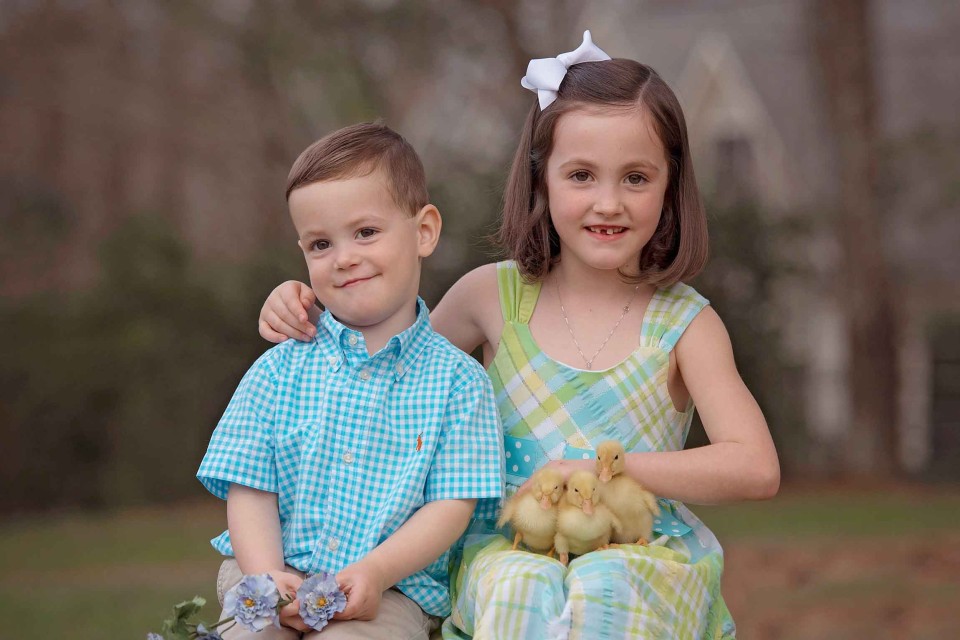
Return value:
M 674 350 L 710 444 L 627 456 L 627 472 L 657 495 L 713 504 L 773 497 L 780 463 L 767 422 L 737 371 L 730 336 L 712 307 Z

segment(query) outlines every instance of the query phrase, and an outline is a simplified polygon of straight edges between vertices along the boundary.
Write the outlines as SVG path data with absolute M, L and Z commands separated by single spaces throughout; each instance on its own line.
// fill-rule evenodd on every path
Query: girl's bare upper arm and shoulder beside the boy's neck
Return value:
M 485 345 L 486 361 L 487 351 L 500 342 L 503 329 L 497 265 L 483 265 L 457 280 L 430 312 L 430 324 L 466 353 Z

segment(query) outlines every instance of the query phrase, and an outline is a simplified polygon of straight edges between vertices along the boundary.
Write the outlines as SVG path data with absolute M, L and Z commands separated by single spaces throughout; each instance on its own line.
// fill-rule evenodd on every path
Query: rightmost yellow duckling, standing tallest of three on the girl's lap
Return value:
M 660 505 L 652 493 L 624 473 L 627 454 L 616 440 L 597 447 L 597 476 L 603 503 L 620 519 L 622 527 L 612 539 L 620 544 L 647 544 L 653 535 L 653 518 Z

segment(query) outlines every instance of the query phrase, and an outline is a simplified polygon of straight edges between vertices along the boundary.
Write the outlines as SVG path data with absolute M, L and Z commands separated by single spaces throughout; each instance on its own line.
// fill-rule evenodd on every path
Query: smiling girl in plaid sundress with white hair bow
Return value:
M 534 60 L 538 94 L 507 184 L 498 239 L 512 260 L 457 282 L 431 315 L 464 351 L 482 346 L 497 391 L 507 492 L 542 464 L 593 469 L 623 443 L 626 473 L 658 496 L 647 547 L 563 567 L 511 551 L 490 521 L 464 547 L 445 638 L 725 638 L 723 556 L 683 503 L 772 497 L 780 468 L 766 422 L 707 301 L 682 283 L 703 267 L 706 219 L 676 96 L 651 68 L 590 42 Z M 309 339 L 305 284 L 264 305 L 268 340 Z M 710 444 L 683 450 L 694 406 Z

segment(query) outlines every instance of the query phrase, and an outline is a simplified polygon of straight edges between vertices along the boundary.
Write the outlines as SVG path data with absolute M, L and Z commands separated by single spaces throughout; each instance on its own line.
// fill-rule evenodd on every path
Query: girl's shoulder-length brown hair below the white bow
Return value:
M 640 252 L 639 280 L 669 286 L 693 278 L 707 261 L 707 219 L 693 175 L 686 121 L 667 83 L 633 60 L 575 64 L 553 104 L 541 111 L 534 101 L 507 180 L 497 242 L 527 279 L 542 279 L 560 259 L 560 238 L 547 202 L 547 158 L 560 116 L 587 106 L 634 107 L 650 114 L 670 175 L 660 224 Z

